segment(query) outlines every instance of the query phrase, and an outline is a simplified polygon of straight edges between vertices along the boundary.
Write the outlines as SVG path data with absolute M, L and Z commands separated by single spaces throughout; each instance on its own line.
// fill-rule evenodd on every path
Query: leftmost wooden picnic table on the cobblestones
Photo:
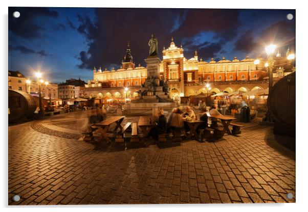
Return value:
M 111 140 L 106 135 L 110 125 L 112 125 L 113 123 L 117 124 L 117 126 L 113 130 L 114 132 L 116 132 L 118 130 L 118 128 L 120 128 L 120 130 L 122 130 L 123 127 L 121 126 L 121 123 L 122 123 L 124 118 L 125 118 L 125 116 L 113 116 L 113 117 L 107 118 L 107 119 L 105 119 L 101 122 L 98 122 L 94 125 L 98 127 L 98 130 L 102 134 L 102 137 L 104 139 L 106 139 L 107 142 L 111 142 Z

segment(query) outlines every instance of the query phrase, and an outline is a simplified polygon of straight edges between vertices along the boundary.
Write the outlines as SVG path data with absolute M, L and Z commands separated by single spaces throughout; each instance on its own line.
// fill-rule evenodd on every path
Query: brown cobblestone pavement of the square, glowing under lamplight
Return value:
M 9 127 L 10 205 L 295 202 L 295 152 L 280 145 L 295 141 L 272 127 L 250 123 L 217 142 L 107 146 L 73 133 L 88 113 Z

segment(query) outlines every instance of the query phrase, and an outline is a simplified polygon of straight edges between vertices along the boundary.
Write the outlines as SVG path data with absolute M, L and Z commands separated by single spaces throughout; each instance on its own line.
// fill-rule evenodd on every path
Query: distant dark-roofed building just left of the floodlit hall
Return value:
M 61 83 L 58 85 L 58 97 L 60 99 L 69 99 L 80 96 L 80 91 L 83 90 L 85 82 L 71 78 L 67 80 L 65 83 Z M 75 89 L 76 88 L 76 89 Z

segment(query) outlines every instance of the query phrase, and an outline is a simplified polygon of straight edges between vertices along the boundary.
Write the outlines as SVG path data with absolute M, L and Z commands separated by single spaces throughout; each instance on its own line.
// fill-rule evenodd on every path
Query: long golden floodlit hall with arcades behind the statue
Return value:
M 223 57 L 219 61 L 212 58 L 206 62 L 202 58 L 199 59 L 197 51 L 194 52 L 193 58 L 186 59 L 183 46 L 175 45 L 173 38 L 169 47 L 164 47 L 162 52 L 160 77 L 167 81 L 170 97 L 268 88 L 267 61 L 261 57 L 257 58 L 258 65 L 254 64 L 256 59 L 251 59 L 248 56 L 243 60 L 234 57 L 230 61 Z M 289 54 L 289 50 L 287 54 Z M 281 57 L 279 52 L 274 59 L 275 64 L 282 64 L 274 68 L 274 81 L 295 71 L 291 62 L 286 57 Z M 128 44 L 121 68 L 118 70 L 105 69 L 104 71 L 101 68 L 98 70 L 94 68 L 93 80 L 85 85 L 83 96 L 124 96 L 124 87 L 127 87 L 130 93 L 135 96 L 146 78 L 147 68 L 140 64 L 135 67 Z M 205 87 L 206 84 L 210 85 L 209 90 Z

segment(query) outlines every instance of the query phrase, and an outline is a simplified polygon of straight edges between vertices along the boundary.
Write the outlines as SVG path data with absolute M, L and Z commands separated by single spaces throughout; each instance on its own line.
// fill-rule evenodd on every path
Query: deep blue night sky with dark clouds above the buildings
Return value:
M 40 69 L 54 83 L 91 80 L 94 66 L 120 67 L 128 41 L 136 65 L 145 66 L 152 33 L 161 59 L 171 36 L 187 59 L 194 50 L 204 61 L 254 58 L 270 43 L 284 55 L 295 51 L 295 10 L 9 8 L 9 70 L 34 78 Z

